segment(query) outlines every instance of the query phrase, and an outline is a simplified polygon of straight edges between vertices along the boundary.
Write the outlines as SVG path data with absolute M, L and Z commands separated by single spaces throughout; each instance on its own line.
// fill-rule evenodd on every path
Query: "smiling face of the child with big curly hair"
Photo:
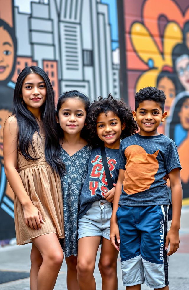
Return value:
M 96 121 L 97 135 L 107 148 L 119 149 L 120 136 L 125 124 L 112 111 L 100 113 Z

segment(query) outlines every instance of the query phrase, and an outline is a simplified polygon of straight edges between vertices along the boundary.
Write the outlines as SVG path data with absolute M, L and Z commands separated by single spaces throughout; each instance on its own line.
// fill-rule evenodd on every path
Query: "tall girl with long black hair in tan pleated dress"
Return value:
M 53 88 L 39 67 L 25 67 L 4 125 L 4 166 L 14 191 L 17 245 L 32 242 L 31 290 L 52 290 L 63 261 L 63 201 Z

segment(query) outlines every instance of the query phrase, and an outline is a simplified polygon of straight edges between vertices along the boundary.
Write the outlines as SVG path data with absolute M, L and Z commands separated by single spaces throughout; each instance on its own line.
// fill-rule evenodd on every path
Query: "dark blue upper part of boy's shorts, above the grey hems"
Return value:
M 146 261 L 167 264 L 167 206 L 127 206 L 117 210 L 121 262 L 141 255 Z

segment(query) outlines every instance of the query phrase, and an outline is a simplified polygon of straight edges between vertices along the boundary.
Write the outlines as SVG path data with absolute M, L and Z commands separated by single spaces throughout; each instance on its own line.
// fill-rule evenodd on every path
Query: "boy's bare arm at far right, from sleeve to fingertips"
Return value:
M 180 181 L 180 170 L 175 168 L 169 173 L 171 200 L 172 200 L 172 222 L 170 230 L 167 233 L 165 241 L 165 249 L 170 243 L 170 250 L 167 256 L 175 253 L 179 247 L 179 229 L 180 229 L 180 214 L 182 207 L 182 186 Z

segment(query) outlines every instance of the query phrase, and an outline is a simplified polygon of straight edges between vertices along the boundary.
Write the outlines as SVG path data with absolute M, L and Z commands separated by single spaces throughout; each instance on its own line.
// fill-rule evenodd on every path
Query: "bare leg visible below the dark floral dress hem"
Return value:
M 77 282 L 77 256 L 71 255 L 66 257 L 67 265 L 67 289 L 68 290 L 79 290 Z

